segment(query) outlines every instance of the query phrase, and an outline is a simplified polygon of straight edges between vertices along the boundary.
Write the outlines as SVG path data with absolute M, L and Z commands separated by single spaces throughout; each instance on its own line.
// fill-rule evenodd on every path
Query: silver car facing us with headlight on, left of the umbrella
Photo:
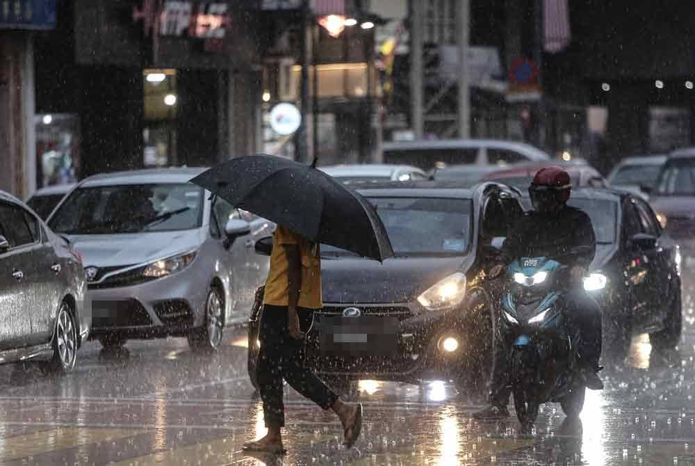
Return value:
M 247 319 L 268 272 L 254 243 L 272 224 L 188 183 L 202 171 L 89 177 L 51 214 L 84 258 L 92 336 L 105 348 L 172 335 L 214 350 L 225 326 Z

